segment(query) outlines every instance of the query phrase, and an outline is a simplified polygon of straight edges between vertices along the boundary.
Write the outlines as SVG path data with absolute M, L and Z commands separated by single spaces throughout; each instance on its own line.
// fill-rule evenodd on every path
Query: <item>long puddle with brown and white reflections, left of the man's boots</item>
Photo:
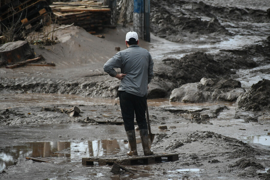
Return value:
M 94 140 L 81 143 L 38 142 L 0 149 L 0 171 L 14 164 L 21 157 L 64 157 L 80 161 L 83 157 L 115 155 L 128 149 L 123 140 Z M 75 160 L 76 159 L 76 160 Z

